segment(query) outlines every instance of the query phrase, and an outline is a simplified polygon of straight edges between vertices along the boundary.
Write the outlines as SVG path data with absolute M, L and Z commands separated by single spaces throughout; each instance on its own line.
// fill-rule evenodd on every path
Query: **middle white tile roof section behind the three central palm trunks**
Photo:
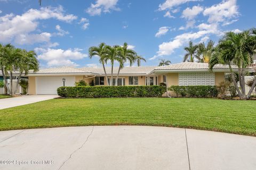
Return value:
M 156 68 L 156 66 L 140 66 L 140 67 L 124 67 L 123 69 L 120 70 L 119 74 L 148 74 L 151 71 L 153 71 Z M 94 73 L 99 73 L 99 74 L 105 74 L 103 67 L 83 67 L 81 69 L 88 70 L 90 72 Z M 106 72 L 107 74 L 111 74 L 111 67 L 106 67 Z M 118 72 L 118 67 L 114 67 L 113 69 L 113 74 L 117 74 Z

